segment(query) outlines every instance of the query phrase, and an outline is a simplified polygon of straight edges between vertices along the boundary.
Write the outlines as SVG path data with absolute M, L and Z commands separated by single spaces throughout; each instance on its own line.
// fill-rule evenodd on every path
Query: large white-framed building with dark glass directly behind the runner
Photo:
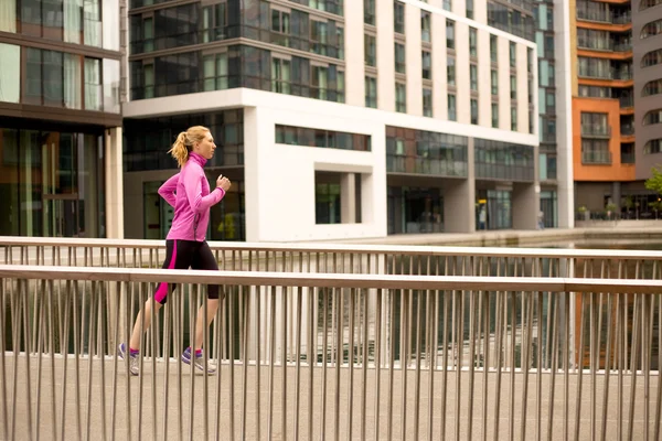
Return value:
M 212 239 L 534 229 L 543 195 L 545 223 L 572 226 L 569 133 L 538 151 L 533 14 L 515 1 L 134 0 L 126 236 L 166 234 L 166 152 L 196 123 L 220 146 L 210 179 L 234 182 Z M 570 117 L 566 92 L 552 92 L 555 117 Z

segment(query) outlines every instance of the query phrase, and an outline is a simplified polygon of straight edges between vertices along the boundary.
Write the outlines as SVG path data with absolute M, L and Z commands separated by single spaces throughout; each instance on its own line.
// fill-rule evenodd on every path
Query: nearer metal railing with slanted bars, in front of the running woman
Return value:
M 0 280 L 4 439 L 660 434 L 659 280 L 30 266 Z M 115 347 L 158 282 L 179 289 L 131 377 Z M 200 283 L 226 287 L 203 336 L 213 377 L 178 361 L 209 308 Z

